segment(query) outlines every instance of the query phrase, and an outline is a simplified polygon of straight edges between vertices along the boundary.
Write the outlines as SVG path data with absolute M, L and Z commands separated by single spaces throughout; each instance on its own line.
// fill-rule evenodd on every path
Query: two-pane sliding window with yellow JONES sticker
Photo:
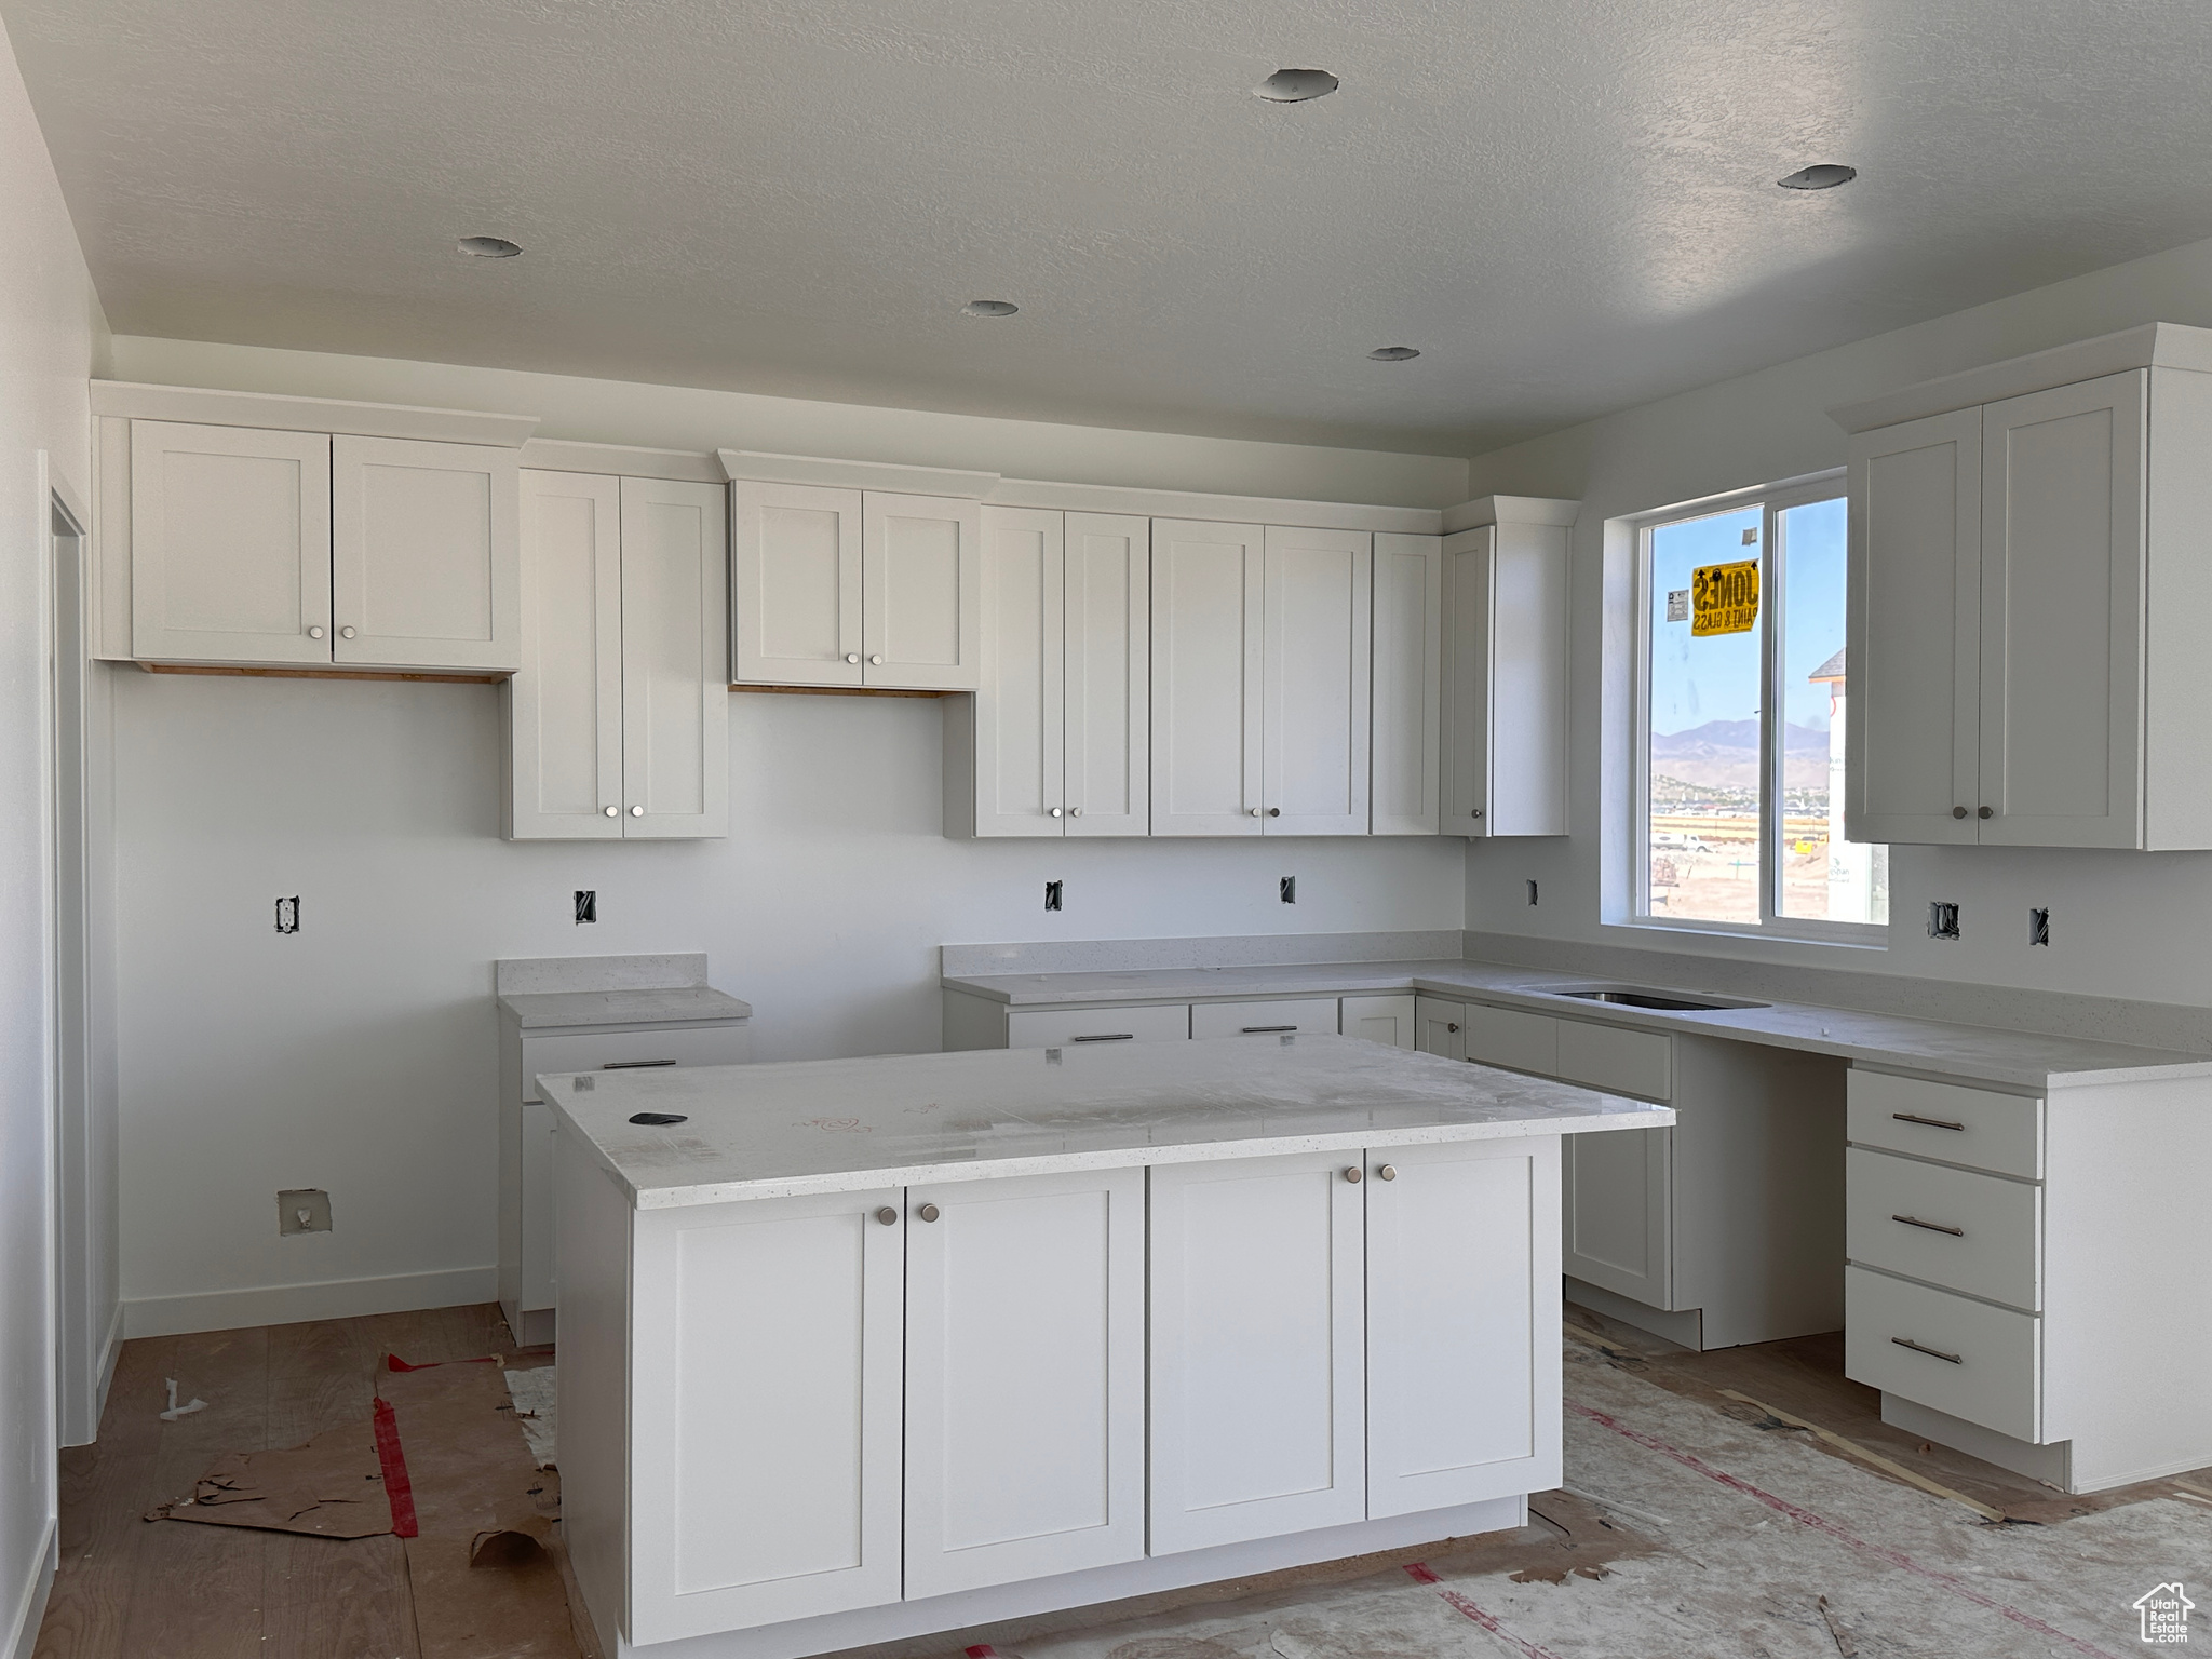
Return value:
M 1865 940 L 1889 849 L 1843 838 L 1840 478 L 1639 524 L 1637 918 Z

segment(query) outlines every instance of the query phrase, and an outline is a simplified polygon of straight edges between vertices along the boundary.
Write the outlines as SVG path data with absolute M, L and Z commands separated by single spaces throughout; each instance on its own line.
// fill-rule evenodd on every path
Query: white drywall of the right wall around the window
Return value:
M 1938 374 L 2137 323 L 2212 327 L 2212 241 L 1663 398 L 1475 458 L 1469 489 L 1582 500 L 1575 524 L 1573 807 L 1564 841 L 1473 843 L 1467 925 L 1613 945 L 1752 956 L 1929 980 L 2212 1004 L 2212 854 L 1898 847 L 1885 951 L 1741 942 L 1613 925 L 1628 878 L 1630 617 L 1606 520 L 1843 467 L 1827 409 Z M 1526 883 L 1540 907 L 1528 909 Z M 1927 938 L 1929 900 L 1960 905 L 1958 942 Z M 2053 916 L 2028 945 L 2028 907 Z

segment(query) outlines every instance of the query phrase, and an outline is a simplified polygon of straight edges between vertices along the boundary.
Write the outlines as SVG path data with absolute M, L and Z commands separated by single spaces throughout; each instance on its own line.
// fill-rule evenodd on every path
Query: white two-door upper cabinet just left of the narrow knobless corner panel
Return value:
M 1152 520 L 1152 834 L 1367 834 L 1374 538 Z

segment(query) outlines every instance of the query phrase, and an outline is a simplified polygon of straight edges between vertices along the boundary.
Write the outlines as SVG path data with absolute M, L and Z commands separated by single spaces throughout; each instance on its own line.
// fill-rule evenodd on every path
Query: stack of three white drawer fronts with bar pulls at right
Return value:
M 1845 1371 L 2039 1440 L 2044 1102 L 1854 1068 L 1849 1117 Z

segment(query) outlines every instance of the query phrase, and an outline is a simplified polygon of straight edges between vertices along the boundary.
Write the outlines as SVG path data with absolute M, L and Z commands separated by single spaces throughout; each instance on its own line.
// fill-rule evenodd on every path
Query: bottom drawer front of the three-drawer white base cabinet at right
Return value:
M 1871 1267 L 1843 1270 L 1845 1376 L 2015 1440 L 2042 1436 L 2039 1327 L 2033 1314 L 1907 1285 Z

